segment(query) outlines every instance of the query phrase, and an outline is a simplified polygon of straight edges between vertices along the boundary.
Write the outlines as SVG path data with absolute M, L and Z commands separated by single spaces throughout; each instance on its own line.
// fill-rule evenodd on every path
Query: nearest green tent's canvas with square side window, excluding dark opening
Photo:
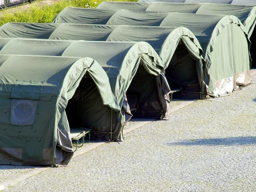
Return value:
M 109 127 L 106 113 L 120 108 L 107 74 L 92 58 L 0 55 L 0 164 L 67 165 L 73 156 L 67 107 L 77 91 L 98 102 L 77 99 L 82 110 L 102 115 L 77 116 L 78 126 L 84 120 Z

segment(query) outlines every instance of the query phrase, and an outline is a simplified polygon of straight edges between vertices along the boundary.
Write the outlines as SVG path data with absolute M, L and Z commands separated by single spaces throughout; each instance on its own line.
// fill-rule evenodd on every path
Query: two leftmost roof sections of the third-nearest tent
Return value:
M 117 26 L 69 23 L 6 23 L 0 38 L 106 41 Z

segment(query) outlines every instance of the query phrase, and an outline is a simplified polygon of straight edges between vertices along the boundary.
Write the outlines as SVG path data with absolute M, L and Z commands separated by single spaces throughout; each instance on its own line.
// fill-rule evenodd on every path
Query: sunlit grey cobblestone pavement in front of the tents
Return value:
M 256 191 L 256 76 L 252 81 L 5 191 Z

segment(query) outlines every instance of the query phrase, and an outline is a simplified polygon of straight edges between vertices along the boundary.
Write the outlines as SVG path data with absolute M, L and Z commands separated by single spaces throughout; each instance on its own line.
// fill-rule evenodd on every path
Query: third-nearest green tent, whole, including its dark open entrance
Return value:
M 0 36 L 85 41 L 146 41 L 160 55 L 170 87 L 182 88 L 183 98 L 207 96 L 207 86 L 203 80 L 203 51 L 195 35 L 185 27 L 6 23 L 0 27 Z M 176 67 L 170 64 L 171 58 L 172 63 L 175 58 L 179 61 Z

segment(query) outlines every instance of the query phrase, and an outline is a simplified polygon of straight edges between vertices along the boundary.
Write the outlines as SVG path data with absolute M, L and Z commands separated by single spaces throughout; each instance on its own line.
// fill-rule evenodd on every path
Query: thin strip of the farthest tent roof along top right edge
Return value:
M 232 5 L 256 5 L 255 0 L 139 0 L 138 2 L 221 3 Z

